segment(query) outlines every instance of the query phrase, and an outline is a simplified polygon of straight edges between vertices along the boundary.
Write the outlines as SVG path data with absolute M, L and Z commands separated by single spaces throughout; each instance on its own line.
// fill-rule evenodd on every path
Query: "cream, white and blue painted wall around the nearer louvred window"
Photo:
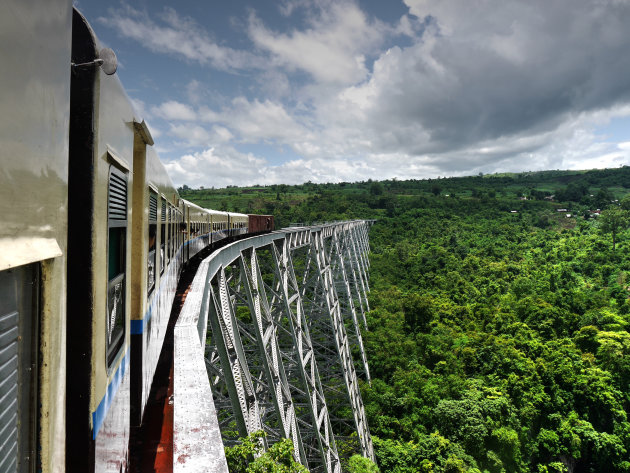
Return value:
M 98 40 L 97 50 L 102 47 Z M 129 442 L 129 356 L 131 313 L 131 225 L 133 222 L 134 174 L 121 166 L 133 166 L 133 122 L 134 110 L 124 92 L 117 75 L 108 76 L 99 69 L 95 86 L 95 134 L 94 144 L 94 212 L 92 216 L 93 255 L 93 300 L 92 300 L 92 374 L 90 391 L 90 419 L 95 439 L 95 470 L 115 471 L 114 465 L 126 458 Z M 125 341 L 120 353 L 111 366 L 107 363 L 106 319 L 108 285 L 108 184 L 110 167 L 114 166 L 127 174 L 127 237 L 125 279 Z M 125 374 L 120 382 L 121 373 Z M 104 422 L 101 429 L 96 421 Z M 107 420 L 107 422 L 106 422 Z M 111 442 L 106 441 L 111 439 Z

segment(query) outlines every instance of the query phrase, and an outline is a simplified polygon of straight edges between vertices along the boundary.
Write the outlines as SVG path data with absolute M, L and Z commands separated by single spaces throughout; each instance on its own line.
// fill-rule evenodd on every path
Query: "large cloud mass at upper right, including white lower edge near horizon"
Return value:
M 368 80 L 316 99 L 323 152 L 398 155 L 409 173 L 422 160 L 442 175 L 573 166 L 576 130 L 630 102 L 628 2 L 406 4 L 422 36 L 384 52 Z

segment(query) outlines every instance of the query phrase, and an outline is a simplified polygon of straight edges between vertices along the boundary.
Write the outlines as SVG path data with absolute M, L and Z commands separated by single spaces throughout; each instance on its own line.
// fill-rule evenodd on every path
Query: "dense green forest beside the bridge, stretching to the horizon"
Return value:
M 630 472 L 630 167 L 180 191 L 277 227 L 376 220 L 381 472 Z

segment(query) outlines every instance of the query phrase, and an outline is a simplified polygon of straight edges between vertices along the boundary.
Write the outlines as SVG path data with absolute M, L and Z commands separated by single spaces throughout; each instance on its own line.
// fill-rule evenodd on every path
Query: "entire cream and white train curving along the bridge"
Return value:
M 0 38 L 0 473 L 125 472 L 183 269 L 274 219 L 180 196 L 71 0 Z

